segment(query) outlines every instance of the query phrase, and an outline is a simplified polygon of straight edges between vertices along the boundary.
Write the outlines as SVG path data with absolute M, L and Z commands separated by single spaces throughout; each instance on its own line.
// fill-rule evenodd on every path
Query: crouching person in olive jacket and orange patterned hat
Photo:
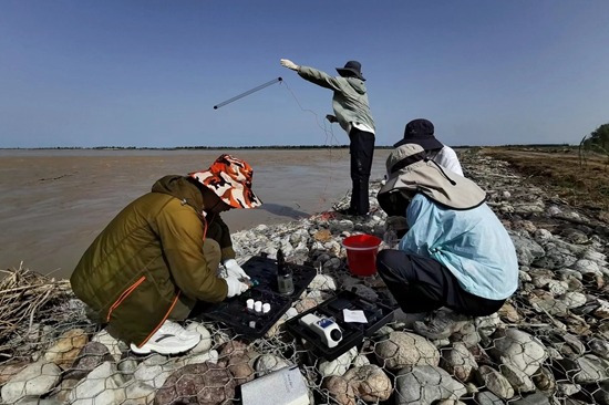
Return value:
M 220 212 L 261 205 L 252 176 L 245 160 L 221 155 L 207 170 L 158 179 L 84 252 L 70 279 L 76 297 L 135 353 L 193 349 L 200 335 L 172 320 L 186 319 L 197 300 L 218 302 L 248 288 Z

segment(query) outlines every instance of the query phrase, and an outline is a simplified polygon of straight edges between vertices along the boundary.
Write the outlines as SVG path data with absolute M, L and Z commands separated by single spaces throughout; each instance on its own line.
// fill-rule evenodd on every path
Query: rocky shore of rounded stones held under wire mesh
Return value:
M 32 316 L 14 331 L 0 357 L 2 402 L 240 403 L 239 385 L 297 365 L 311 404 L 609 404 L 609 226 L 479 150 L 460 158 L 465 176 L 487 190 L 517 250 L 519 288 L 498 313 L 431 329 L 427 319 L 398 310 L 331 362 L 286 330 L 288 319 L 341 290 L 386 299 L 379 278 L 349 272 L 341 245 L 353 233 L 386 237 L 375 181 L 365 219 L 329 211 L 234 233 L 240 261 L 281 249 L 288 261 L 318 269 L 264 338 L 250 341 L 221 323 L 188 320 L 187 329 L 203 335 L 194 350 L 138 356 L 89 322 L 85 308 L 66 294 L 55 303 L 56 318 Z M 431 318 L 448 315 L 440 310 Z

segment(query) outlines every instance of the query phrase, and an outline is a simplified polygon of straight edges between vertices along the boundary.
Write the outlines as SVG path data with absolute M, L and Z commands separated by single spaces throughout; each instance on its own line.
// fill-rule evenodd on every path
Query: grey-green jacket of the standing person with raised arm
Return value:
M 374 133 L 374 120 L 368 104 L 365 84 L 358 77 L 331 76 L 309 66 L 300 66 L 298 74 L 319 86 L 334 91 L 332 108 L 340 126 L 349 133 L 352 123 L 363 124 Z

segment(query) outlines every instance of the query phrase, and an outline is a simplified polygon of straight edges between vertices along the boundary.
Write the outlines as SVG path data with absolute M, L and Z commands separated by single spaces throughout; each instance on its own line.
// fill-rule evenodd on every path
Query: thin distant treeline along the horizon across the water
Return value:
M 527 145 L 500 145 L 494 147 L 572 147 L 569 144 L 527 144 Z M 484 147 L 481 145 L 460 145 L 452 146 L 458 148 Z M 73 146 L 55 146 L 55 147 L 9 147 L 3 149 L 103 149 L 103 150 L 242 150 L 242 149 L 341 149 L 349 148 L 349 145 L 271 145 L 271 146 L 175 146 L 175 147 L 138 147 L 138 146 L 93 146 L 93 147 L 73 147 Z M 393 149 L 393 146 L 376 145 L 376 149 Z M 2 149 L 2 148 L 0 148 Z

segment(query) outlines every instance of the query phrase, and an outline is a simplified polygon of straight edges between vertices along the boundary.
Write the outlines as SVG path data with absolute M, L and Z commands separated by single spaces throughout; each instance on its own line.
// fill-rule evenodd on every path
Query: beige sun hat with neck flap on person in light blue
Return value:
M 379 190 L 379 200 L 392 191 L 411 197 L 421 193 L 454 209 L 474 208 L 486 200 L 486 193 L 474 181 L 429 159 L 417 144 L 395 148 L 386 159 L 386 173 L 388 180 Z

